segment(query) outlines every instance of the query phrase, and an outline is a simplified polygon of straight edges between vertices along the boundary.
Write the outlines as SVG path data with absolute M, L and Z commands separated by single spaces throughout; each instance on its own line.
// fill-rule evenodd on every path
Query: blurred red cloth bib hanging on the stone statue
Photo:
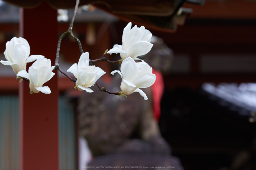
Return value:
M 165 85 L 163 83 L 163 76 L 161 72 L 153 69 L 152 73 L 156 76 L 155 83 L 151 86 L 154 103 L 154 116 L 155 119 L 159 121 L 161 115 L 161 99 Z

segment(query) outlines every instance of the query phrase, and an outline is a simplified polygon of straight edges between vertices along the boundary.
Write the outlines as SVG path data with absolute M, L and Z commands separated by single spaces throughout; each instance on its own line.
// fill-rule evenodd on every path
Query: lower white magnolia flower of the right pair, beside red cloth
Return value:
M 135 63 L 131 57 L 128 57 L 121 64 L 121 72 L 115 70 L 111 74 L 114 75 L 116 72 L 122 77 L 121 90 L 125 95 L 139 92 L 144 100 L 147 100 L 147 95 L 139 89 L 150 87 L 155 83 L 155 75 L 147 63 L 144 61 Z

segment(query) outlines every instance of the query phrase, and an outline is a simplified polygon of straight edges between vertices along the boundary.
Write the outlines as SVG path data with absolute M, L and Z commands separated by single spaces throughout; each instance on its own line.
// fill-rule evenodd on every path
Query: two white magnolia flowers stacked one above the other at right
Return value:
M 147 100 L 147 95 L 140 88 L 147 88 L 155 83 L 155 75 L 152 68 L 144 61 L 135 63 L 142 56 L 150 52 L 152 34 L 144 26 L 138 28 L 136 25 L 131 29 L 132 23 L 124 28 L 122 45 L 114 45 L 108 53 L 120 53 L 123 62 L 121 72 L 115 70 L 111 74 L 119 73 L 122 77 L 121 90 L 125 95 L 139 92 Z

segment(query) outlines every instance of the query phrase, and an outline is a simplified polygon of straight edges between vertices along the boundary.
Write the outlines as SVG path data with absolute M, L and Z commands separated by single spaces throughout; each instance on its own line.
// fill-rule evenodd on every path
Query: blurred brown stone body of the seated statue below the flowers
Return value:
M 120 86 L 116 82 L 105 88 Z M 93 93 L 84 93 L 79 102 L 80 135 L 87 139 L 94 156 L 124 152 L 170 154 L 154 119 L 150 88 L 143 89 L 148 100 L 136 92 L 125 98 L 96 88 Z

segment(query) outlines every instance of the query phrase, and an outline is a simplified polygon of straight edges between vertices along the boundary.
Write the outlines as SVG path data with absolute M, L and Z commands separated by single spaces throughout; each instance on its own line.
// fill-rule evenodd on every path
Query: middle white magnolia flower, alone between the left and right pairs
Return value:
M 96 81 L 106 72 L 95 65 L 89 65 L 89 53 L 83 53 L 78 61 L 78 64 L 73 64 L 68 72 L 71 72 L 76 77 L 76 87 L 78 90 L 86 90 L 93 92 L 89 87 L 93 86 Z

